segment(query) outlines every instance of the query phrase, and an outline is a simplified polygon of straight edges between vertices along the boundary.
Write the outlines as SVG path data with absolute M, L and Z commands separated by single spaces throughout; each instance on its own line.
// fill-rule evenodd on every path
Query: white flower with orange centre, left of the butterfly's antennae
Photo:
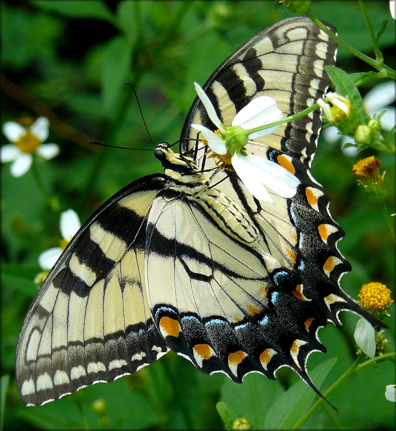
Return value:
M 4 135 L 12 144 L 1 147 L 1 162 L 12 162 L 10 172 L 13 177 L 21 177 L 32 165 L 33 155 L 38 154 L 49 160 L 59 154 L 59 146 L 43 144 L 49 135 L 49 121 L 38 118 L 30 127 L 7 121 L 2 127 Z

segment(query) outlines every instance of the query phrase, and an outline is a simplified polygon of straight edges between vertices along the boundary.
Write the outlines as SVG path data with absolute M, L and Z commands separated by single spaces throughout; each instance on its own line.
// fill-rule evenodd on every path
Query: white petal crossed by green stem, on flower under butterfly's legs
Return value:
M 239 125 L 245 130 L 260 127 L 268 123 L 282 120 L 283 113 L 275 100 L 269 96 L 260 96 L 250 101 L 235 116 L 232 125 Z M 273 133 L 279 126 L 273 126 L 258 132 L 250 133 L 250 139 L 256 139 Z

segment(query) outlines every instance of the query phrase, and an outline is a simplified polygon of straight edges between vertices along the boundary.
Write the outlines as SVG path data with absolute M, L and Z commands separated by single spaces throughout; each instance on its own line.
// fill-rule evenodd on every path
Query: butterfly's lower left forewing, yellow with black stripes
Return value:
M 164 177 L 120 190 L 82 226 L 50 271 L 16 349 L 22 401 L 41 405 L 112 381 L 169 349 L 153 325 L 145 288 L 147 216 Z

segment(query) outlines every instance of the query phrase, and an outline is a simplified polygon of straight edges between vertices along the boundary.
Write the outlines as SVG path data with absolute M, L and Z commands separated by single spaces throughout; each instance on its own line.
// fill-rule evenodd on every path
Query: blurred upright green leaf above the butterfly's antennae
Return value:
M 107 112 L 119 105 L 121 90 L 128 80 L 133 45 L 124 37 L 116 36 L 106 47 L 102 70 L 102 100 Z

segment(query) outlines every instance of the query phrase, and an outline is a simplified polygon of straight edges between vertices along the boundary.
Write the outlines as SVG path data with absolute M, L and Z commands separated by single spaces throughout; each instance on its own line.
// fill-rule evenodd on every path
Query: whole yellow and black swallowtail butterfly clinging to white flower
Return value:
M 323 97 L 335 55 L 309 19 L 285 19 L 232 54 L 203 89 L 225 125 L 261 95 L 293 115 Z M 271 193 L 273 202 L 255 199 L 232 170 L 209 176 L 215 160 L 197 146 L 193 123 L 215 128 L 198 98 L 180 154 L 164 143 L 155 150 L 164 175 L 105 202 L 44 281 L 16 349 L 25 404 L 115 380 L 170 349 L 239 383 L 249 372 L 275 379 L 288 366 L 317 391 L 305 364 L 326 351 L 318 329 L 341 327 L 341 310 L 380 324 L 339 285 L 350 270 L 337 248 L 344 232 L 310 173 L 319 110 L 247 145 L 300 181 L 295 196 Z

